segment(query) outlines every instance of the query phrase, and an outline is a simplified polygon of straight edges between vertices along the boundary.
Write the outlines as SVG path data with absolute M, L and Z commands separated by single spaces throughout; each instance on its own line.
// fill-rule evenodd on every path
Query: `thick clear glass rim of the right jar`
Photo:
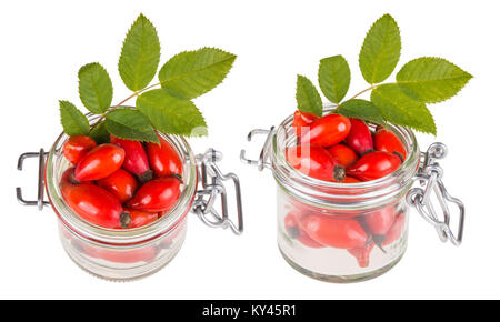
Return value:
M 326 105 L 323 114 L 334 110 L 333 105 Z M 363 202 L 386 200 L 393 194 L 401 193 L 402 189 L 409 189 L 420 164 L 420 150 L 414 133 L 406 127 L 384 124 L 404 144 L 407 158 L 394 172 L 372 181 L 360 183 L 329 182 L 311 178 L 294 169 L 286 159 L 286 148 L 291 147 L 297 137 L 291 128 L 293 114 L 286 118 L 274 130 L 270 144 L 270 161 L 274 179 L 278 184 L 309 203 L 320 203 L 334 208 L 360 207 Z M 374 127 L 374 124 L 370 124 Z

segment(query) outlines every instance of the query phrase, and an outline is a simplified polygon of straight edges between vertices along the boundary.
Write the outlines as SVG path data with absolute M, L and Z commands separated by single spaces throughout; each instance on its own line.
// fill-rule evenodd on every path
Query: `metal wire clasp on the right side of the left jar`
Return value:
M 198 214 L 202 222 L 209 227 L 228 227 L 236 234 L 243 232 L 243 212 L 241 207 L 240 180 L 234 173 L 223 174 L 217 167 L 217 162 L 222 159 L 222 153 L 213 149 L 207 150 L 204 154 L 197 155 L 199 174 L 203 189 L 197 191 L 197 199 L 193 202 L 192 211 Z M 236 225 L 228 215 L 228 194 L 223 181 L 232 180 L 234 184 L 236 205 L 238 212 L 238 225 Z M 214 209 L 218 197 L 221 197 L 222 214 Z

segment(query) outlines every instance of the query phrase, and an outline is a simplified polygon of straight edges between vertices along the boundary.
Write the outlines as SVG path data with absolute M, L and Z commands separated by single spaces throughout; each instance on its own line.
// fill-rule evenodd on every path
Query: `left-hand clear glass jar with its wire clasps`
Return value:
M 96 123 L 99 115 L 88 115 Z M 37 201 L 26 201 L 17 188 L 18 200 L 24 205 L 51 205 L 58 217 L 59 233 L 63 249 L 84 271 L 107 280 L 134 280 L 159 271 L 179 252 L 186 238 L 188 213 L 193 211 L 211 227 L 231 228 L 242 232 L 241 195 L 238 178 L 222 174 L 216 162 L 221 154 L 212 149 L 206 154 L 194 155 L 188 142 L 180 137 L 159 133 L 183 160 L 181 195 L 176 205 L 157 221 L 137 229 L 106 229 L 81 219 L 62 199 L 59 182 L 70 163 L 62 154 L 62 145 L 68 135 L 62 133 L 48 153 L 21 154 L 18 169 L 22 170 L 26 158 L 39 158 L 39 194 Z M 227 207 L 222 214 L 214 209 L 214 201 L 221 195 L 227 203 L 226 191 L 221 193 L 223 181 L 234 183 L 238 224 L 228 218 Z M 201 182 L 203 189 L 197 190 Z M 44 183 L 44 189 L 43 189 Z M 49 201 L 43 200 L 44 191 Z

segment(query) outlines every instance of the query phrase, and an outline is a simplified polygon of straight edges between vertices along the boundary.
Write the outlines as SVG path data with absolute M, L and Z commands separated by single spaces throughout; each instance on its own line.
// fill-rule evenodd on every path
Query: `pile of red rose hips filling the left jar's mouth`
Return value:
M 107 229 L 133 229 L 168 213 L 181 194 L 182 161 L 173 147 L 110 135 L 97 145 L 70 137 L 62 153 L 73 164 L 60 182 L 62 198 L 82 219 Z

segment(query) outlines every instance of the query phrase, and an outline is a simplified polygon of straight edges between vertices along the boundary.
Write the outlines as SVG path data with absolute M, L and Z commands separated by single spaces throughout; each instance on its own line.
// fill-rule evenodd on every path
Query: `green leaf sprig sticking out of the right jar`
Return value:
M 394 71 L 401 56 L 401 37 L 390 14 L 378 19 L 368 31 L 359 53 L 359 67 L 369 88 L 344 100 L 351 74 L 342 56 L 320 61 L 318 81 L 324 97 L 337 105 L 334 113 L 376 123 L 390 122 L 423 133 L 437 134 L 427 103 L 456 95 L 472 76 L 442 58 L 422 57 L 406 63 L 396 82 L 382 83 Z M 358 99 L 371 91 L 370 100 Z M 319 91 L 303 76 L 297 77 L 298 109 L 322 115 Z

